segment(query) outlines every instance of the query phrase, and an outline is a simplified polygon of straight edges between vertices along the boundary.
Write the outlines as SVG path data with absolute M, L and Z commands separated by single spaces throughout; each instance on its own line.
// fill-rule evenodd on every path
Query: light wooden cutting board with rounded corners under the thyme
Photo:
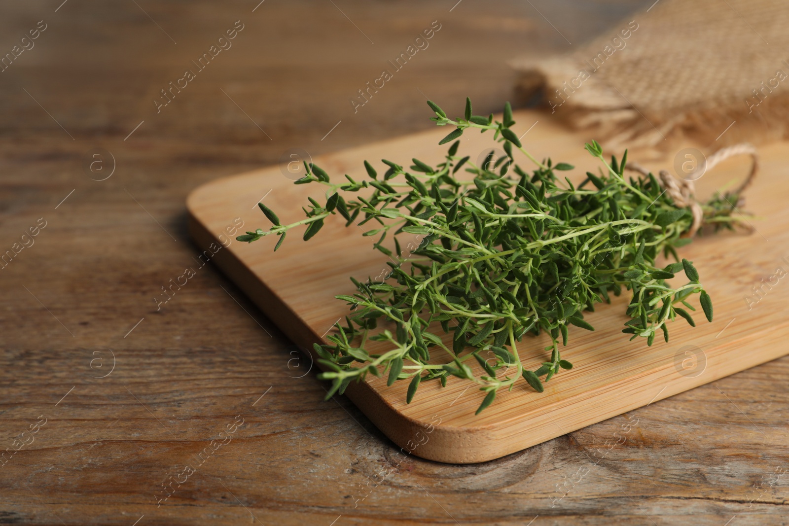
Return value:
M 595 160 L 583 149 L 588 136 L 568 132 L 552 123 L 548 114 L 520 111 L 515 118 L 514 131 L 520 135 L 529 130 L 522 141 L 538 158 L 570 162 L 578 178 L 586 170 L 597 170 Z M 313 161 L 333 178 L 348 173 L 360 180 L 364 159 L 376 166 L 379 159 L 403 165 L 412 157 L 439 162 L 445 148 L 437 143 L 446 133 L 447 129 L 435 129 Z M 462 140 L 461 153 L 477 159 L 488 151 L 490 140 L 490 134 L 469 133 Z M 700 148 L 707 155 L 715 149 Z M 612 153 L 619 157 L 622 152 Z M 752 221 L 757 230 L 719 233 L 681 249 L 683 257 L 694 261 L 712 296 L 712 323 L 699 309 L 696 328 L 676 321 L 669 343 L 658 338 L 647 347 L 644 338 L 630 342 L 621 333 L 628 300 L 620 297 L 587 316 L 595 332 L 570 328 L 562 356 L 574 364 L 571 371 L 556 375 L 541 394 L 525 382 L 509 393 L 500 392 L 479 416 L 474 412 L 484 394 L 462 379 L 450 378 L 444 388 L 438 381 L 423 382 L 410 405 L 406 405 L 408 382 L 404 381 L 387 387 L 385 378 L 369 377 L 361 384 L 352 383 L 346 394 L 402 447 L 403 454 L 472 463 L 503 457 L 789 353 L 789 321 L 783 313 L 789 304 L 789 279 L 783 279 L 789 272 L 789 177 L 785 174 L 789 148 L 785 143 L 768 145 L 761 148 L 760 156 L 761 170 L 746 203 L 760 216 Z M 630 159 L 653 170 L 670 169 L 674 162 L 673 155 L 647 162 L 638 152 L 630 152 Z M 524 159 L 522 166 L 528 161 Z M 749 168 L 748 158 L 727 160 L 697 181 L 697 193 L 708 196 L 741 180 Z M 321 187 L 293 185 L 294 178 L 284 164 L 225 177 L 193 191 L 187 206 L 192 236 L 209 251 L 203 259 L 211 256 L 289 338 L 312 353 L 312 343 L 322 341 L 347 313 L 346 304 L 334 297 L 355 291 L 349 276 L 375 278 L 387 269 L 387 258 L 372 249 L 372 238 L 361 236 L 362 227 L 345 228 L 339 216 L 327 221 L 308 242 L 291 234 L 276 254 L 274 237 L 252 244 L 234 241 L 243 230 L 270 226 L 256 206 L 261 198 L 282 222 L 303 218 L 301 206 L 308 196 L 323 198 Z M 234 232 L 241 222 L 241 229 Z M 220 243 L 225 246 L 219 248 Z M 537 368 L 548 359 L 540 350 L 546 341 L 529 336 L 524 341 L 527 349 L 519 353 L 527 367 Z M 282 356 L 285 361 L 292 357 Z

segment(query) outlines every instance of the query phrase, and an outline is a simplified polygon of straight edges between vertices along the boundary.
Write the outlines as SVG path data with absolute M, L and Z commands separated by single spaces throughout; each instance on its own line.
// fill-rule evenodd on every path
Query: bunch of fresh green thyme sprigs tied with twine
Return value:
M 443 162 L 430 166 L 412 159 L 405 167 L 382 159 L 386 170 L 380 174 L 365 161 L 367 179 L 346 175 L 341 182 L 305 163 L 307 173 L 295 184 L 324 185 L 325 203 L 310 198 L 306 218 L 290 225 L 282 225 L 260 203 L 273 226 L 237 237 L 252 242 L 275 234 L 276 250 L 291 229 L 306 226 L 306 241 L 326 218 L 341 215 L 346 226 L 372 223 L 364 235 L 376 236 L 374 247 L 397 258 L 397 263 L 387 263 L 391 273 L 386 279 L 351 278 L 357 293 L 337 297 L 350 305 L 352 314 L 345 326 L 336 324 L 336 334 L 327 338 L 331 343 L 315 345 L 324 366 L 320 378 L 333 382 L 328 396 L 368 374 L 388 375 L 389 385 L 409 381 L 409 403 L 420 382 L 437 379 L 446 385 L 449 375 L 467 379 L 487 393 L 477 413 L 521 378 L 542 392 L 544 382 L 572 367 L 559 350 L 567 345 L 569 326 L 594 330 L 583 312 L 610 302 L 609 294 L 619 296 L 623 288 L 632 292 L 626 310 L 630 320 L 623 330 L 632 334 L 630 340 L 640 336 L 652 345 L 662 334 L 668 341 L 667 323 L 678 316 L 694 326 L 688 311 L 695 309 L 687 301 L 694 293 L 700 294 L 701 308 L 712 321 L 712 301 L 693 263 L 682 259 L 655 266 L 660 254 L 679 261 L 676 248 L 691 241 L 682 236 L 690 228 L 690 211 L 675 206 L 653 174 L 625 177 L 627 152 L 621 162 L 607 162 L 599 144 L 586 144 L 602 169 L 587 172 L 576 187 L 557 176 L 573 166 L 540 162 L 523 149 L 510 129 L 515 122 L 509 103 L 502 121 L 492 114 L 473 115 L 469 99 L 464 118 L 455 120 L 436 104 L 428 105 L 436 114 L 432 121 L 454 127 L 439 142 L 455 140 Z M 459 156 L 456 139 L 468 129 L 492 132 L 505 155 L 486 159 L 483 166 Z M 515 150 L 536 166 L 531 173 L 515 164 Z M 461 169 L 473 178 L 455 177 Z M 738 197 L 715 196 L 702 205 L 705 222 L 733 228 L 734 207 L 722 203 L 736 203 Z M 421 237 L 407 257 L 401 234 Z M 383 245 L 387 237 L 394 238 L 394 252 Z M 680 271 L 689 282 L 668 284 Z M 522 337 L 541 331 L 552 341 L 544 349 L 544 362 L 523 363 L 518 354 L 518 346 L 525 345 Z M 451 345 L 444 345 L 442 332 L 452 334 Z M 388 350 L 368 353 L 368 341 L 385 341 Z M 446 359 L 432 359 L 437 352 Z M 473 362 L 480 367 L 469 367 Z

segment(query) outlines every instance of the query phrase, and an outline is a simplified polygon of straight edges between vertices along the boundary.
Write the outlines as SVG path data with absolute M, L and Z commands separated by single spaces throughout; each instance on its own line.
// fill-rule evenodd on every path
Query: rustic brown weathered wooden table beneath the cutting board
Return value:
M 20 448 L 0 524 L 787 524 L 787 358 L 498 461 L 394 469 L 394 445 L 322 401 L 308 359 L 210 265 L 159 308 L 197 267 L 197 185 L 426 129 L 425 96 L 497 110 L 508 58 L 641 6 L 256 4 L 2 6 L 2 53 L 46 29 L 0 73 L 0 434 Z M 232 47 L 193 65 L 236 21 Z

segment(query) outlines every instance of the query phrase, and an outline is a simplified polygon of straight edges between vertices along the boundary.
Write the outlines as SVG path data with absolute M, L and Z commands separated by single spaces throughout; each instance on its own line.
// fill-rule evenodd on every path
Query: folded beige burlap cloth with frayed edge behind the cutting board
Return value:
M 789 0 L 659 0 L 577 51 L 513 65 L 522 95 L 608 147 L 724 146 L 789 135 L 787 43 Z

